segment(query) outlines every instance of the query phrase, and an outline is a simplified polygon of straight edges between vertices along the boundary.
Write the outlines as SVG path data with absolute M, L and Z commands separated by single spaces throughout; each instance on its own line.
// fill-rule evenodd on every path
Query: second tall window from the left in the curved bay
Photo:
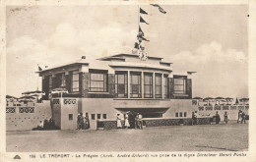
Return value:
M 141 98 L 141 73 L 131 72 L 131 98 Z

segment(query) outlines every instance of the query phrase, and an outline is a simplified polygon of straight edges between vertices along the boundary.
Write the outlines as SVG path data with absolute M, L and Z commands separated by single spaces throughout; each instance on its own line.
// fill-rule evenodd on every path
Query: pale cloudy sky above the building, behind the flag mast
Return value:
M 193 96 L 248 97 L 246 5 L 140 6 L 149 56 L 195 71 Z M 131 53 L 138 6 L 7 7 L 7 94 L 41 88 L 40 67 Z

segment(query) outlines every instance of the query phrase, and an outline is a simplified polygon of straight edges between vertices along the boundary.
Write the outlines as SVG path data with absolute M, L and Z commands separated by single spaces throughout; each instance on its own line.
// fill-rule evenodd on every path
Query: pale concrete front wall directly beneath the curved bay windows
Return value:
M 190 99 L 111 99 L 111 98 L 80 98 L 81 100 L 81 112 L 88 112 L 90 118 L 92 114 L 106 114 L 106 120 L 115 120 L 117 114 L 121 114 L 116 108 L 169 108 L 162 118 L 180 118 L 175 117 L 175 112 L 182 112 L 182 118 L 184 118 L 184 112 L 187 113 L 187 117 L 191 118 L 192 112 L 197 110 L 197 106 L 192 106 Z M 122 117 L 122 116 L 121 116 Z M 123 118 L 123 117 L 122 117 Z

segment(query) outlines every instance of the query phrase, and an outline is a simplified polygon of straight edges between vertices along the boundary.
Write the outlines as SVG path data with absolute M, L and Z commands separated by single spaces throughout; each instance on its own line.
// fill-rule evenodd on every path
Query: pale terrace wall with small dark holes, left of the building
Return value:
M 42 103 L 35 103 L 33 113 L 20 113 L 19 109 L 22 108 L 31 108 L 26 106 L 13 106 L 6 107 L 15 108 L 15 113 L 6 113 L 6 131 L 26 131 L 32 130 L 32 128 L 37 127 L 40 124 L 40 121 L 44 119 L 49 120 L 51 118 L 51 107 L 50 101 L 43 100 Z

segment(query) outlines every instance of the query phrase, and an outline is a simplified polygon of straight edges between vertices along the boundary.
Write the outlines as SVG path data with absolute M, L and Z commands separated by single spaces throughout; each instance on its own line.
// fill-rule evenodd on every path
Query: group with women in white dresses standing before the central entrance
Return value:
M 122 125 L 121 122 L 121 116 L 120 114 L 117 114 L 116 118 L 117 122 L 117 129 L 143 129 L 143 121 L 142 121 L 142 115 L 137 114 L 124 114 L 124 124 Z

